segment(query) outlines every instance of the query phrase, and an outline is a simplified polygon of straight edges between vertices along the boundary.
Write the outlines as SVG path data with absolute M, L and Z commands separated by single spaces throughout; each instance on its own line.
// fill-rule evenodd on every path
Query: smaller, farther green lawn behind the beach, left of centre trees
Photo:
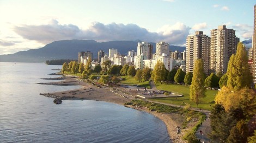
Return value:
M 120 83 L 123 83 L 125 85 L 140 85 L 142 87 L 150 88 L 149 81 L 144 81 L 139 83 L 139 81 L 135 80 L 135 77 L 131 77 L 131 76 L 120 76 L 120 77 L 124 79 L 120 81 Z

